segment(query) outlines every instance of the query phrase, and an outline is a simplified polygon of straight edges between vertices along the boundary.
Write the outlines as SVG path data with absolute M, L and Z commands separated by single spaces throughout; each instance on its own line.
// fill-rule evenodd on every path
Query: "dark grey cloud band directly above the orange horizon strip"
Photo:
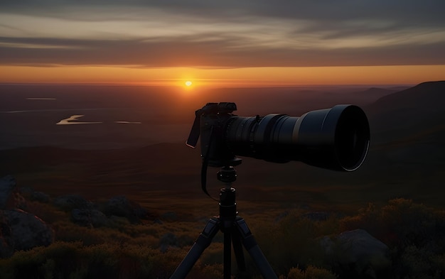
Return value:
M 445 43 L 372 48 L 293 49 L 239 46 L 236 38 L 70 40 L 0 38 L 0 60 L 14 65 L 124 65 L 127 67 L 267 67 L 445 64 Z M 8 45 L 7 44 L 7 45 Z M 235 45 L 235 46 L 234 46 Z

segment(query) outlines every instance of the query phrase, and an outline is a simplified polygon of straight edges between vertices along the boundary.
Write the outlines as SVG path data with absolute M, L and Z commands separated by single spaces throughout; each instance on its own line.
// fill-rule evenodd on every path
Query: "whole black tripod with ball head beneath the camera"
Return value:
M 203 231 L 195 241 L 195 244 L 193 244 L 170 279 L 186 278 L 186 275 L 190 272 L 196 261 L 198 261 L 198 258 L 205 248 L 210 245 L 213 236 L 215 236 L 218 230 L 224 234 L 224 279 L 231 278 L 231 244 L 233 245 L 238 273 L 240 273 L 240 275 L 246 273 L 246 263 L 242 250 L 242 246 L 244 246 L 257 265 L 263 278 L 277 279 L 277 275 L 274 273 L 274 270 L 272 270 L 272 267 L 259 248 L 257 241 L 255 241 L 250 229 L 247 227 L 246 221 L 240 216 L 237 216 L 235 202 L 236 190 L 231 187 L 232 182 L 236 180 L 236 176 L 236 170 L 231 166 L 222 167 L 218 172 L 218 180 L 225 183 L 225 187 L 220 190 L 220 216 L 208 220 Z

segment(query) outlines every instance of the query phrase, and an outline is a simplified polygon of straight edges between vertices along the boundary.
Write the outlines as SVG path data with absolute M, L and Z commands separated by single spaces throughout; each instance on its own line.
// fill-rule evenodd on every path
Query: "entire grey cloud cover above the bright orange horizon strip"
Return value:
M 10 65 L 445 64 L 445 1 L 9 1 Z

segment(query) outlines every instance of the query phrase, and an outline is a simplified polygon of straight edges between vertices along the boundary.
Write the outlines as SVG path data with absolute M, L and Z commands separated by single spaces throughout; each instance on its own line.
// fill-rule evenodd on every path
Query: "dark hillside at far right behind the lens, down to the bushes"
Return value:
M 364 173 L 392 197 L 443 207 L 445 81 L 424 82 L 387 95 L 363 109 L 371 147 Z

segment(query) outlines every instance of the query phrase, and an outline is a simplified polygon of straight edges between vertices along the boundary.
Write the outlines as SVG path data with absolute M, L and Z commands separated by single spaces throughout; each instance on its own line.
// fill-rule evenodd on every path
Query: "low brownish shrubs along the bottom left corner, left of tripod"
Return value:
M 55 242 L 19 251 L 0 260 L 2 279 L 9 278 L 168 278 L 183 253 L 144 246 Z

